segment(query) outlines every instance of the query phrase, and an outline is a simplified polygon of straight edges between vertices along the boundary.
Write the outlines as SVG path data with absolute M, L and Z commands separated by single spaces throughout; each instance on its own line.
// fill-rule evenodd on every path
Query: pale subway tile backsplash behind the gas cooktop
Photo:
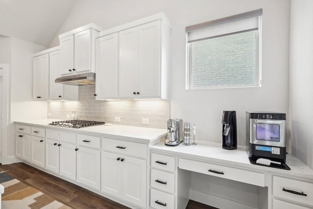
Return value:
M 49 118 L 67 119 L 67 115 L 76 111 L 78 119 L 98 120 L 108 123 L 167 128 L 170 116 L 169 100 L 95 100 L 95 85 L 79 86 L 79 101 L 48 102 Z M 120 117 L 120 122 L 115 122 Z M 142 124 L 142 118 L 148 118 L 149 124 Z

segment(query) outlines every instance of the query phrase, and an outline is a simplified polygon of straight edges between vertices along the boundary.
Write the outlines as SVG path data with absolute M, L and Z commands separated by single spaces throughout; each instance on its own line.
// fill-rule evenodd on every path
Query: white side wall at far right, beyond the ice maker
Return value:
M 313 1 L 291 1 L 290 131 L 292 153 L 313 168 Z

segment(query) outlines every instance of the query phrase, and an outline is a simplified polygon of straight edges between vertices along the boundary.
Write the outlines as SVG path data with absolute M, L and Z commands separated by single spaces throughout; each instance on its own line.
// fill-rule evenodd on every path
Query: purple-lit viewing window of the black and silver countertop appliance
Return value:
M 265 141 L 279 141 L 279 125 L 278 124 L 256 124 L 256 139 Z

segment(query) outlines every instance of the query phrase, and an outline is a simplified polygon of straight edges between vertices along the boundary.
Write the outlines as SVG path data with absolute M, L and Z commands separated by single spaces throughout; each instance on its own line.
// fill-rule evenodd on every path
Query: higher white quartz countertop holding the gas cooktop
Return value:
M 84 128 L 67 128 L 60 126 L 48 125 L 52 121 L 60 121 L 60 119 L 36 119 L 36 120 L 22 120 L 15 121 L 16 123 L 44 127 L 47 129 L 59 129 L 62 131 L 76 132 L 80 134 L 101 135 L 113 139 L 126 139 L 142 143 L 150 143 L 156 139 L 165 136 L 165 129 L 143 128 L 135 126 L 115 125 L 111 126 L 96 125 Z

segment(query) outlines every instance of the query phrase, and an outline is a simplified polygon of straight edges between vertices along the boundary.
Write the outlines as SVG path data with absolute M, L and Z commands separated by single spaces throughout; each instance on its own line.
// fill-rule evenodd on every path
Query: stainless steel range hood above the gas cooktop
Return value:
M 56 83 L 76 85 L 76 86 L 95 84 L 96 83 L 95 81 L 96 81 L 96 73 L 94 72 L 62 76 L 62 77 L 55 79 Z

